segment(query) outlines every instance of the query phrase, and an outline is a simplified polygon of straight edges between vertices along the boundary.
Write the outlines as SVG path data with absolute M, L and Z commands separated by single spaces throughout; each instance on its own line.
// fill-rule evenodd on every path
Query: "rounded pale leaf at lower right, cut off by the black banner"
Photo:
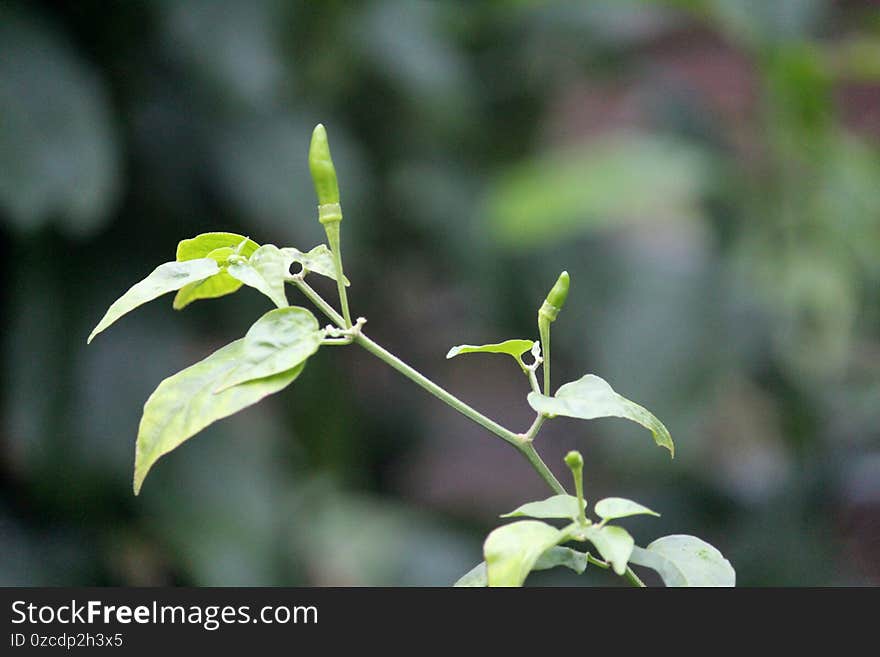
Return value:
M 633 548 L 630 561 L 656 570 L 666 586 L 735 586 L 736 572 L 714 547 L 696 536 L 658 538 Z

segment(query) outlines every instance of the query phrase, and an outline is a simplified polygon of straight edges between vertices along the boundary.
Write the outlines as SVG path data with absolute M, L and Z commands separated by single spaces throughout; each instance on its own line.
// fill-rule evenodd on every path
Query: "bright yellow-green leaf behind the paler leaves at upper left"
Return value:
M 259 248 L 259 244 L 244 235 L 236 233 L 202 233 L 177 245 L 179 261 L 194 258 L 214 258 L 217 264 L 224 266 L 226 258 L 233 253 L 249 257 Z M 227 251 L 227 249 L 229 249 Z M 222 258 L 222 259 L 221 259 Z M 174 297 L 174 309 L 182 310 L 193 301 L 199 299 L 216 299 L 237 292 L 242 286 L 241 281 L 234 279 L 225 270 L 206 278 L 203 281 L 190 283 L 180 289 Z

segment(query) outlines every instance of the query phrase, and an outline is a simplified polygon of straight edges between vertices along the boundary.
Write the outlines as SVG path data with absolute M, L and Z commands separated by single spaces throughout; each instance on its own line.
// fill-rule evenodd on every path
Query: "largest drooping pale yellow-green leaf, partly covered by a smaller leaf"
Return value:
M 195 365 L 165 379 L 144 405 L 135 449 L 134 492 L 137 495 L 156 461 L 217 420 L 285 388 L 305 363 L 286 372 L 249 381 L 214 394 L 239 364 L 244 339 L 215 351 Z

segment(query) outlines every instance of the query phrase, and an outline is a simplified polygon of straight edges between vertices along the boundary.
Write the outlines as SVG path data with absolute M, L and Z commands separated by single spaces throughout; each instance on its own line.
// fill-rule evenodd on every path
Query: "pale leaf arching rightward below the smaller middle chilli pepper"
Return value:
M 665 447 L 675 456 L 672 436 L 654 415 L 646 408 L 618 395 L 608 382 L 594 374 L 566 383 L 556 391 L 555 397 L 547 397 L 530 392 L 529 405 L 538 413 L 564 415 L 583 420 L 599 417 L 622 417 L 638 422 L 654 435 L 654 442 Z

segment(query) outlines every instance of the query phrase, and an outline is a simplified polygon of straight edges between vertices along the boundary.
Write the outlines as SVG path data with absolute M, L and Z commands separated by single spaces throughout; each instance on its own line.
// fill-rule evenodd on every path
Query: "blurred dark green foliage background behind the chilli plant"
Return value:
M 0 3 L 0 583 L 446 585 L 499 513 L 546 495 L 350 348 L 132 496 L 144 400 L 270 306 L 169 296 L 86 335 L 179 239 L 323 241 L 318 121 L 372 337 L 524 430 L 508 359 L 444 355 L 535 337 L 568 269 L 555 381 L 606 378 L 677 456 L 560 419 L 538 442 L 557 475 L 582 450 L 590 499 L 663 513 L 627 523 L 637 541 L 701 536 L 740 584 L 880 583 L 868 0 Z

